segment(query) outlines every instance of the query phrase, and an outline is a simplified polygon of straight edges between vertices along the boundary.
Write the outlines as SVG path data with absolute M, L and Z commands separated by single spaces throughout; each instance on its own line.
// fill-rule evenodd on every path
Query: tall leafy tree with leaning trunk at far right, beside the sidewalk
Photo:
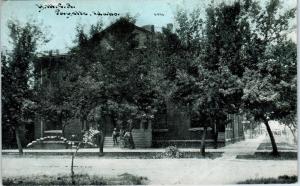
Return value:
M 296 45 L 287 39 L 295 8 L 281 13 L 279 0 L 271 0 L 264 9 L 258 3 L 252 3 L 249 12 L 248 21 L 253 21 L 254 25 L 245 43 L 244 57 L 249 65 L 243 74 L 243 106 L 256 121 L 266 125 L 272 153 L 278 155 L 269 121 L 285 118 L 296 109 L 293 88 L 296 86 L 293 81 L 296 76 Z M 291 92 L 287 94 L 288 90 Z

